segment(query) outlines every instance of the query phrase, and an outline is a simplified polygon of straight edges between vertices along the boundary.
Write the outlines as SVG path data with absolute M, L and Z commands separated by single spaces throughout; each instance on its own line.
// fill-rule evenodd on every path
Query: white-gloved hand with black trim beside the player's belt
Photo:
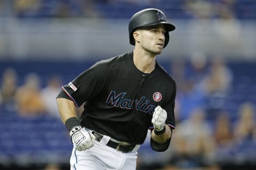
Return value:
M 85 129 L 82 129 L 81 126 L 75 126 L 71 129 L 69 134 L 73 145 L 77 150 L 81 151 L 93 147 L 95 136 L 92 133 L 87 132 Z

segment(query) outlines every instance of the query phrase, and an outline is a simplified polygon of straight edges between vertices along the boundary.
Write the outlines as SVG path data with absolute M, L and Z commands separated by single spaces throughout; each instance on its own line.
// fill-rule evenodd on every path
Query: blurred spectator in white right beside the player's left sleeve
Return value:
M 57 75 L 54 75 L 48 80 L 47 86 L 41 91 L 46 112 L 58 118 L 60 118 L 60 115 L 56 103 L 56 97 L 58 96 L 60 89 L 61 79 Z

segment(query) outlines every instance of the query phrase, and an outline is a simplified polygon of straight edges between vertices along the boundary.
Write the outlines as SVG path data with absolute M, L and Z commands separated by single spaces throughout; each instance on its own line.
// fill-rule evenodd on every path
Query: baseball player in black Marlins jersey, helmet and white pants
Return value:
M 169 147 L 176 85 L 156 55 L 174 29 L 158 9 L 135 13 L 129 22 L 134 50 L 95 63 L 62 87 L 57 104 L 74 144 L 70 169 L 135 169 L 148 130 L 153 150 Z M 78 121 L 75 106 L 82 104 Z

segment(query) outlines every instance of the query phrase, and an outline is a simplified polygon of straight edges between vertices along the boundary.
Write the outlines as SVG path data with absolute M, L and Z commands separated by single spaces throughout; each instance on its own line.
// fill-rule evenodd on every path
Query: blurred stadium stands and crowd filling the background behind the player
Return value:
M 165 152 L 145 141 L 137 170 L 256 169 L 254 0 L 0 0 L 0 169 L 69 169 L 55 96 L 132 50 L 129 19 L 150 7 L 177 27 L 157 58 L 177 81 L 177 128 Z

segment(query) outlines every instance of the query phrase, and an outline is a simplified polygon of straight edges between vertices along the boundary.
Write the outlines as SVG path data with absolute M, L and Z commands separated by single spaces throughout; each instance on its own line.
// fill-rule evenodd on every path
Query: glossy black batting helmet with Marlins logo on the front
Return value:
M 135 45 L 133 38 L 133 32 L 135 29 L 156 24 L 164 24 L 166 31 L 164 47 L 166 47 L 169 42 L 169 31 L 175 30 L 175 26 L 173 24 L 167 23 L 164 13 L 155 8 L 147 8 L 145 10 L 141 10 L 132 16 L 129 22 L 130 44 Z

